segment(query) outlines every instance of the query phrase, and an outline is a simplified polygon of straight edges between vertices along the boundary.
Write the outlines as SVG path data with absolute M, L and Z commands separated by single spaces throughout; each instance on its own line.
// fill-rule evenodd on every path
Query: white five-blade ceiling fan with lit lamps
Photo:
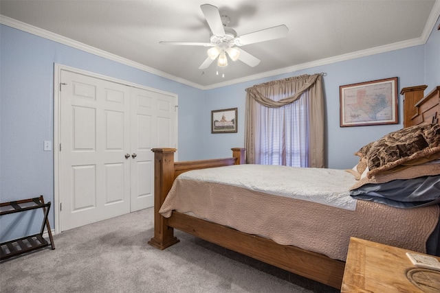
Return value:
M 188 43 L 188 42 L 168 42 L 162 41 L 161 44 L 168 45 L 189 45 L 189 46 L 204 46 L 210 47 L 207 54 L 208 58 L 200 65 L 199 69 L 208 68 L 211 63 L 218 57 L 217 65 L 225 67 L 228 65 L 228 58 L 231 60 L 241 60 L 250 67 L 255 67 L 260 60 L 248 52 L 241 49 L 241 46 L 250 45 L 254 43 L 264 42 L 266 40 L 274 40 L 276 38 L 283 38 L 287 36 L 289 29 L 285 25 L 277 25 L 265 30 L 251 32 L 243 36 L 237 36 L 232 28 L 228 27 L 230 21 L 226 15 L 221 15 L 219 9 L 214 5 L 203 4 L 200 6 L 206 22 L 211 30 L 210 43 Z

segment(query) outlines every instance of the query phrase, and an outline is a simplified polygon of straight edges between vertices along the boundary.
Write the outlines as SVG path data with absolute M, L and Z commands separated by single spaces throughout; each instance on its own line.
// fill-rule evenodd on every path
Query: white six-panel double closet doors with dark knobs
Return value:
M 61 71 L 61 231 L 153 206 L 152 148 L 175 146 L 176 97 Z

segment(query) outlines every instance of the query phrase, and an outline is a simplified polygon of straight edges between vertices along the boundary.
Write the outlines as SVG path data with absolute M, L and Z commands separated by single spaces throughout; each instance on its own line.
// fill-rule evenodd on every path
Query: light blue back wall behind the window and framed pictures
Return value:
M 382 78 L 399 78 L 399 92 L 402 87 L 423 84 L 424 69 L 423 46 L 400 49 L 384 54 L 377 54 L 364 58 L 333 63 L 307 70 L 296 71 L 289 74 L 277 75 L 263 80 L 254 80 L 234 86 L 225 86 L 221 89 L 206 91 L 206 113 L 217 108 L 239 108 L 239 131 L 236 134 L 210 134 L 205 139 L 204 156 L 228 156 L 229 148 L 243 147 L 244 141 L 244 111 L 245 111 L 245 89 L 253 84 L 297 76 L 304 73 L 314 74 L 325 72 L 323 78 L 326 99 L 326 126 L 327 126 L 327 166 L 336 169 L 353 167 L 358 158 L 353 156 L 362 145 L 379 139 L 384 134 L 402 127 L 399 124 L 386 126 L 360 126 L 340 128 L 339 124 L 339 86 L 366 82 L 369 80 L 380 80 Z M 401 117 L 402 96 L 399 95 L 399 115 Z M 209 124 L 206 116 L 206 124 Z

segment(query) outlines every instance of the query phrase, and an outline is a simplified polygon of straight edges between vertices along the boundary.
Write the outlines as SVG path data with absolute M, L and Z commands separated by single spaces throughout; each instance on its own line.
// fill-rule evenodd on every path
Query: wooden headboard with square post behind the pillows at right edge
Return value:
M 440 86 L 423 97 L 428 86 L 411 86 L 401 89 L 404 95 L 404 127 L 427 123 L 440 123 Z

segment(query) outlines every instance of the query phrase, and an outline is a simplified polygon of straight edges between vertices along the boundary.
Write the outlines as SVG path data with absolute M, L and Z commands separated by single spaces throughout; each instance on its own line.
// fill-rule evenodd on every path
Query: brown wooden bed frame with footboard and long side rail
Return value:
M 174 148 L 153 149 L 155 152 L 155 234 L 148 244 L 161 250 L 176 244 L 179 239 L 174 236 L 173 228 L 177 228 L 272 266 L 340 289 L 344 274 L 344 261 L 331 259 L 295 246 L 277 244 L 270 239 L 242 233 L 233 228 L 176 211 L 173 211 L 170 218 L 162 217 L 159 209 L 177 175 L 191 169 L 243 164 L 245 159 L 245 150 L 234 148 L 232 149 L 233 157 L 228 159 L 174 162 L 175 151 Z

